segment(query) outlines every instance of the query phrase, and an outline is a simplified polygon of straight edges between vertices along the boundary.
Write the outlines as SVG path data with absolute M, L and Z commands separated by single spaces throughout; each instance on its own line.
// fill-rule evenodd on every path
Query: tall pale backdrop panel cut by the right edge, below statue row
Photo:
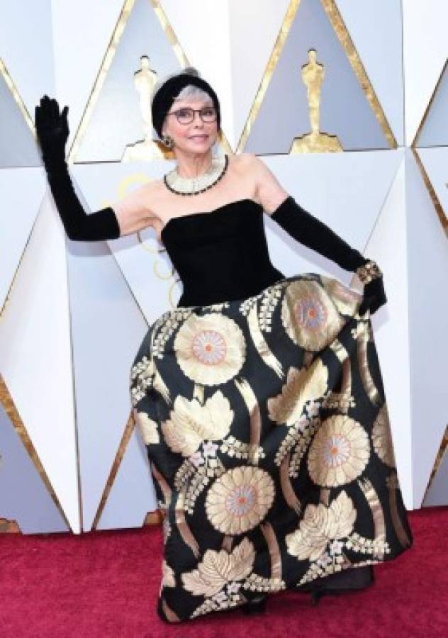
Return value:
M 406 150 L 413 488 L 420 507 L 448 422 L 447 237 Z

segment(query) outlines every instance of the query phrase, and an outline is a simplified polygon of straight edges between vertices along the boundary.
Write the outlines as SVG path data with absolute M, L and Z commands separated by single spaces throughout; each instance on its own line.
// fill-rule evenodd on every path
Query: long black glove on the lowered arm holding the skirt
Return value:
M 299 206 L 291 195 L 276 208 L 271 218 L 295 240 L 323 254 L 324 257 L 332 259 L 345 270 L 356 272 L 359 267 L 370 261 L 358 250 L 349 246 L 331 228 Z M 364 285 L 364 297 L 359 306 L 359 314 L 364 314 L 366 310 L 370 310 L 373 314 L 386 301 L 383 277 L 371 279 Z

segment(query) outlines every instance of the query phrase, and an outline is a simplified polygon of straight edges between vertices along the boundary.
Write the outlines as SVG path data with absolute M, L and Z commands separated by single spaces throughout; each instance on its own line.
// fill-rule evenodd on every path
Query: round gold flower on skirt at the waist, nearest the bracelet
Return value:
M 323 287 L 309 279 L 293 281 L 286 288 L 281 322 L 294 343 L 313 351 L 332 342 L 344 325 Z

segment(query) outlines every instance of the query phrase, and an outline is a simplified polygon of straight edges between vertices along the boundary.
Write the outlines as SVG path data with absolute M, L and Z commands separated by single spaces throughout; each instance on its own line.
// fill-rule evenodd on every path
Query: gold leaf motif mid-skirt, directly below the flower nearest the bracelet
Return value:
M 327 381 L 328 369 L 320 359 L 315 359 L 309 368 L 289 368 L 281 394 L 267 400 L 269 418 L 278 425 L 293 425 L 307 401 L 323 396 Z

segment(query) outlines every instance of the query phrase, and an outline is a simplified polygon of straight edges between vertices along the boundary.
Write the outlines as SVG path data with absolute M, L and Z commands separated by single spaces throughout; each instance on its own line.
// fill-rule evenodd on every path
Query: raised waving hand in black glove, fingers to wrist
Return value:
M 47 95 L 40 98 L 40 104 L 35 107 L 35 130 L 45 166 L 65 160 L 65 145 L 69 137 L 68 111 L 68 106 L 60 111 L 57 101 Z

